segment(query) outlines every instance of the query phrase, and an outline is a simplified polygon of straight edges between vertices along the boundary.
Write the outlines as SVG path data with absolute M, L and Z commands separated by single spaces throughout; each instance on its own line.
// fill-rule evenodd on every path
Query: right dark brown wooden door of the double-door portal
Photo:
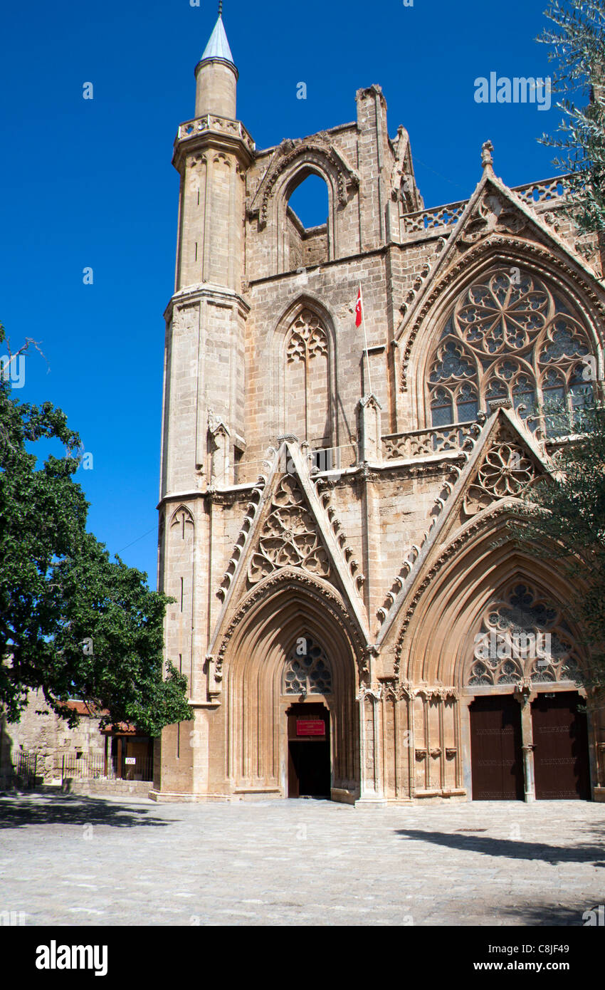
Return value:
M 588 801 L 588 733 L 577 691 L 541 693 L 532 702 L 536 797 Z

